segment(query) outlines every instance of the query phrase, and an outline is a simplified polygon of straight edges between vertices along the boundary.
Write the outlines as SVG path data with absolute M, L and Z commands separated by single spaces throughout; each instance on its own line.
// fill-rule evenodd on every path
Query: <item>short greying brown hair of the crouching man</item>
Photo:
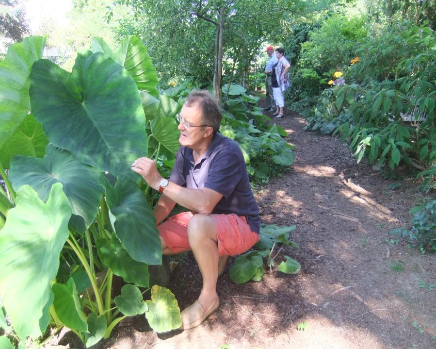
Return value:
M 221 125 L 221 108 L 216 98 L 207 90 L 192 90 L 185 99 L 187 107 L 197 105 L 201 112 L 201 117 L 205 125 L 213 127 L 215 134 Z

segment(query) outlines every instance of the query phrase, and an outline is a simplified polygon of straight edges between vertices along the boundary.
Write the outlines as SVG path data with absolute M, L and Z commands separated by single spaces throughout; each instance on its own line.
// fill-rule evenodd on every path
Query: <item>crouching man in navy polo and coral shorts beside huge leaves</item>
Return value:
M 215 98 L 208 91 L 192 91 L 177 118 L 181 147 L 169 180 L 146 157 L 137 159 L 132 170 L 162 193 L 154 208 L 162 253 L 192 250 L 200 268 L 200 296 L 181 313 L 182 328 L 187 330 L 218 308 L 219 272 L 229 255 L 241 254 L 258 242 L 260 219 L 242 151 L 217 132 L 221 112 Z M 176 203 L 191 211 L 161 223 Z

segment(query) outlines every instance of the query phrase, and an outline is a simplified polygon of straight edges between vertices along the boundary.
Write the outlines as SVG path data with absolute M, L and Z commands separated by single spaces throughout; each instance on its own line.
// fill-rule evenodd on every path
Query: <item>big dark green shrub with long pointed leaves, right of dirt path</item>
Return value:
M 348 84 L 323 92 L 307 128 L 339 133 L 359 162 L 422 169 L 428 190 L 436 173 L 435 41 L 426 24 L 403 22 L 361 44 L 359 60 L 344 69 Z

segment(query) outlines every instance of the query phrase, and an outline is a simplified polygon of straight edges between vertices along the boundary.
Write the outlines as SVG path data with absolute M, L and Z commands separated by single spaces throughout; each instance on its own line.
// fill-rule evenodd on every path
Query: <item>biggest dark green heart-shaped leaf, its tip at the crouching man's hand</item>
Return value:
M 147 153 L 141 97 L 127 71 L 101 52 L 78 54 L 72 73 L 48 60 L 32 67 L 32 112 L 53 145 L 113 175 L 131 175 Z

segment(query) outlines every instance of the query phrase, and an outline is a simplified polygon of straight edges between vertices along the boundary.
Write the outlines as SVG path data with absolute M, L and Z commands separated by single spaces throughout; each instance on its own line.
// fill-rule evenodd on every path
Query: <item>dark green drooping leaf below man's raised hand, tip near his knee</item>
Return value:
M 111 223 L 121 246 L 138 262 L 161 264 L 162 247 L 156 228 L 156 218 L 145 194 L 136 183 L 118 178 L 112 186 L 100 177 L 106 189 L 106 200 L 113 216 Z

